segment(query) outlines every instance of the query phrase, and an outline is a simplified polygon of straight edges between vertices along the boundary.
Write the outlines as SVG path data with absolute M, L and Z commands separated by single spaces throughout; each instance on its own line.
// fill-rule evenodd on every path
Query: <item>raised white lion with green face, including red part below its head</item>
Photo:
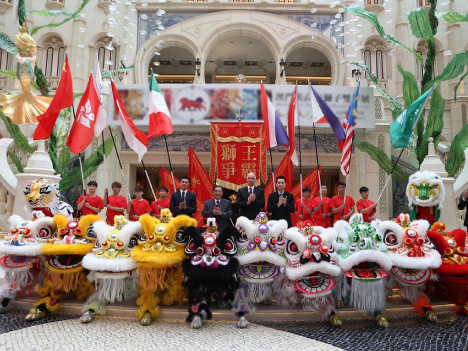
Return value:
M 445 187 L 436 173 L 416 172 L 410 175 L 406 187 L 410 220 L 425 219 L 431 225 L 440 218 L 440 209 L 445 200 Z

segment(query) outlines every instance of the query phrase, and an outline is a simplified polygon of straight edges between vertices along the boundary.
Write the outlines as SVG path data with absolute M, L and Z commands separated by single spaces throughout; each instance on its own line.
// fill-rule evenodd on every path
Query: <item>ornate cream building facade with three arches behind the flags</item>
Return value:
M 0 0 L 0 32 L 11 39 L 18 27 L 14 3 Z M 48 8 L 70 13 L 77 9 L 77 3 L 72 0 L 26 0 L 28 10 Z M 418 79 L 423 67 L 405 49 L 385 42 L 369 23 L 343 12 L 341 4 L 352 3 L 330 0 L 95 0 L 87 4 L 76 19 L 59 27 L 44 28 L 34 35 L 38 45 L 37 63 L 53 94 L 60 80 L 65 53 L 69 57 L 76 92 L 84 91 L 89 73 L 96 69 L 96 57 L 103 70 L 134 65 L 132 71 L 114 75 L 117 84 L 147 84 L 153 70 L 159 75 L 161 84 L 235 83 L 237 75 L 241 74 L 245 76 L 242 78 L 244 82 L 252 84 L 260 81 L 307 84 L 307 80 L 311 80 L 314 85 L 351 86 L 356 84 L 351 77 L 353 66 L 344 61 L 354 61 L 365 63 L 390 95 L 401 98 L 403 78 L 398 72 L 398 63 L 415 72 Z M 427 1 L 365 0 L 356 3 L 376 13 L 388 34 L 426 55 L 427 47 L 411 35 L 405 13 L 417 7 L 427 7 Z M 465 13 L 465 7 L 465 0 L 452 0 L 439 5 L 439 11 Z M 27 25 L 38 27 L 50 23 L 51 19 L 59 22 L 62 17 L 29 15 Z M 440 74 L 453 55 L 468 50 L 468 39 L 463 35 L 466 30 L 468 23 L 440 22 L 435 74 Z M 15 70 L 15 66 L 14 57 L 0 50 L 0 69 Z M 454 135 L 467 124 L 468 118 L 466 79 L 460 85 L 455 101 L 453 87 L 457 82 L 458 79 L 441 84 L 446 100 L 441 141 L 448 146 Z M 365 74 L 362 86 L 372 86 Z M 0 89 L 19 90 L 19 82 L 0 75 Z M 389 139 L 392 117 L 386 100 L 377 90 L 374 105 L 375 128 L 357 130 L 356 138 L 392 155 Z M 305 173 L 316 166 L 316 157 L 312 129 L 304 128 L 302 133 Z M 3 131 L 2 134 L 5 135 Z M 168 139 L 176 175 L 186 173 L 187 152 L 191 145 L 195 145 L 205 168 L 209 168 L 209 126 L 176 126 Z M 332 186 L 344 179 L 339 172 L 341 153 L 331 145 L 334 142 L 331 130 L 321 129 L 317 139 L 320 164 L 325 170 L 323 179 Z M 95 140 L 90 150 L 97 145 Z M 137 183 L 145 185 L 136 154 L 127 149 L 125 142 L 119 143 L 119 147 L 130 188 Z M 274 163 L 278 164 L 282 156 L 283 153 L 275 152 Z M 157 187 L 159 165 L 168 166 L 162 140 L 156 138 L 150 142 L 145 164 Z M 385 184 L 386 173 L 358 150 L 351 164 L 349 193 L 357 199 L 359 187 L 366 185 L 375 200 Z M 414 162 L 405 157 L 402 165 L 411 172 Z M 107 175 L 101 166 L 91 177 L 100 184 L 123 180 L 115 155 L 110 157 L 107 167 Z M 297 181 L 298 171 L 296 173 Z M 382 196 L 378 208 L 380 218 L 391 217 L 394 207 L 406 206 L 401 202 L 401 187 L 394 185 L 395 189 L 389 186 Z

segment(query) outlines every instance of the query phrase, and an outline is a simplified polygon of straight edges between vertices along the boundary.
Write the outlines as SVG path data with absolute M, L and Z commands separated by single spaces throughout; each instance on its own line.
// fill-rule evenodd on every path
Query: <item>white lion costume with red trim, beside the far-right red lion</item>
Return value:
M 410 222 L 409 215 L 401 213 L 395 222 L 377 220 L 372 225 L 387 245 L 392 260 L 388 288 L 398 287 L 400 295 L 413 305 L 416 312 L 436 322 L 437 315 L 424 290 L 426 283 L 434 280 L 432 269 L 438 268 L 442 259 L 427 236 L 429 222 Z

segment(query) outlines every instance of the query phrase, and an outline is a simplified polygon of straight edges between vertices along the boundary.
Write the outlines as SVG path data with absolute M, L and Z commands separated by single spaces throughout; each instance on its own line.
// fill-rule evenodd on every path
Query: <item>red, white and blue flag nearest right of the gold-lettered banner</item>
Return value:
M 266 94 L 263 83 L 260 86 L 260 102 L 265 123 L 265 146 L 267 148 L 277 145 L 289 146 L 288 135 L 275 111 L 275 107 Z

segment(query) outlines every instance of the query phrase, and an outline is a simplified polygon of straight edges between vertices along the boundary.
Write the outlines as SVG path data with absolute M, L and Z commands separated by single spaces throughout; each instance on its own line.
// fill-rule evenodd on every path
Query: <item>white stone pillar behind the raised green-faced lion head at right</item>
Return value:
M 458 208 L 456 204 L 455 193 L 453 190 L 453 183 L 455 179 L 449 177 L 447 172 L 445 172 L 445 167 L 439 156 L 435 151 L 435 146 L 433 139 L 429 138 L 429 149 L 426 158 L 421 164 L 420 171 L 430 171 L 438 174 L 444 183 L 445 186 L 445 201 L 443 203 L 440 215 L 440 222 L 444 222 L 447 226 L 447 231 L 452 231 L 454 229 L 460 228 L 458 226 Z

